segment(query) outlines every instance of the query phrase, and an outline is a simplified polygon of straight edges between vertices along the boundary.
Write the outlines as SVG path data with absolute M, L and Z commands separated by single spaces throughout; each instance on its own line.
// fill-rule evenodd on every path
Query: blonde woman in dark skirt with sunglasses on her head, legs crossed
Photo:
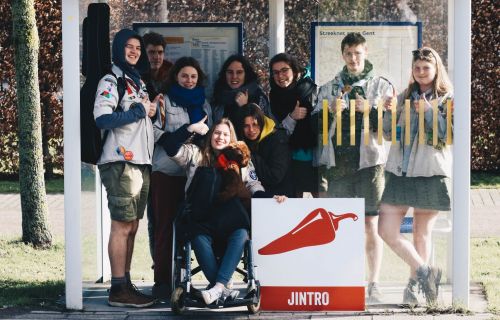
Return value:
M 431 233 L 439 211 L 450 210 L 451 150 L 446 145 L 447 100 L 453 87 L 438 53 L 429 47 L 412 52 L 412 76 L 408 88 L 398 96 L 397 126 L 400 137 L 410 132 L 407 144 L 400 138 L 391 146 L 386 164 L 386 186 L 380 204 L 379 234 L 411 269 L 403 303 L 416 305 L 417 282 L 428 304 L 437 300 L 441 269 L 429 266 Z M 405 100 L 409 99 L 409 127 L 405 121 Z M 437 132 L 433 131 L 432 102 L 437 101 Z M 422 104 L 421 101 L 424 103 Z M 419 132 L 419 108 L 423 107 L 425 129 Z M 386 103 L 386 109 L 391 106 Z M 391 136 L 391 112 L 384 115 L 384 135 Z M 424 143 L 419 136 L 425 135 Z M 437 134 L 437 144 L 433 135 Z M 413 243 L 403 237 L 400 226 L 413 208 Z

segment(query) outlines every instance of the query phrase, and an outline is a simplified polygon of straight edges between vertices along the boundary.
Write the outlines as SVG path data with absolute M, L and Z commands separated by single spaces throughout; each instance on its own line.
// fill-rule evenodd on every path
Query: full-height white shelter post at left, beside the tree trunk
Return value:
M 77 0 L 62 2 L 64 239 L 66 308 L 81 310 L 81 162 L 80 162 L 80 35 Z

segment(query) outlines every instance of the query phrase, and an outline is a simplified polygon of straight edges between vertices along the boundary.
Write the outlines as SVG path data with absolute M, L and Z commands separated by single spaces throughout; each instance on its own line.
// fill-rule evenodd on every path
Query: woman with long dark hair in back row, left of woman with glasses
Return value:
M 257 73 L 247 58 L 235 54 L 226 59 L 214 85 L 211 101 L 214 122 L 226 117 L 235 124 L 236 112 L 247 103 L 256 103 L 264 114 L 273 118 Z

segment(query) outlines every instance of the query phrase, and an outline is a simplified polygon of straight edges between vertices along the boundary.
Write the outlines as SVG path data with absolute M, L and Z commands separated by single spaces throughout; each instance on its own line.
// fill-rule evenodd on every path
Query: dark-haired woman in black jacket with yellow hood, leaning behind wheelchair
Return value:
M 252 163 L 266 191 L 293 197 L 292 157 L 285 129 L 276 128 L 254 103 L 241 107 L 238 118 L 238 136 L 250 148 Z

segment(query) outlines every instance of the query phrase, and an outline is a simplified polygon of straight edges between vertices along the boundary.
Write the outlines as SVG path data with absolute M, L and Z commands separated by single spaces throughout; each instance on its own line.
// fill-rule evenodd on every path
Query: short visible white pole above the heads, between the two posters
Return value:
M 269 58 L 285 52 L 285 0 L 269 0 Z

